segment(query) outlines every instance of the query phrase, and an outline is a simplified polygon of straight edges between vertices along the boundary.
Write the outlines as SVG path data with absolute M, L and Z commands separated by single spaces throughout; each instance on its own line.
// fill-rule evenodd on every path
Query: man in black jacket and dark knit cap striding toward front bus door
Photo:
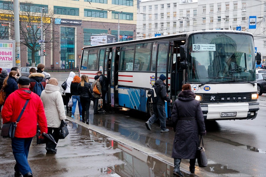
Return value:
M 145 122 L 148 130 L 151 130 L 151 125 L 160 120 L 160 132 L 169 132 L 169 129 L 166 128 L 166 112 L 165 112 L 165 101 L 172 103 L 172 100 L 168 97 L 166 92 L 166 76 L 163 74 L 160 75 L 160 78 L 155 81 L 155 86 L 157 86 L 157 96 L 158 101 L 153 103 L 153 115 L 150 119 Z

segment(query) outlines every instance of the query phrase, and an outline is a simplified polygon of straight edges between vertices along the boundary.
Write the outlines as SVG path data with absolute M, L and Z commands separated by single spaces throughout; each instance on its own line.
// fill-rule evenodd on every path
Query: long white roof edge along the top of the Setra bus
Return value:
M 124 43 L 131 43 L 131 42 L 137 42 L 137 41 L 145 41 L 145 40 L 155 40 L 155 39 L 163 39 L 163 38 L 171 38 L 174 36 L 189 36 L 191 34 L 197 34 L 197 33 L 207 33 L 207 32 L 213 32 L 213 33 L 220 33 L 220 32 L 229 32 L 229 33 L 244 33 L 247 35 L 252 35 L 253 34 L 250 32 L 245 32 L 245 31 L 236 31 L 236 30 L 200 30 L 200 31 L 192 31 L 192 32 L 182 32 L 182 33 L 177 33 L 177 34 L 173 34 L 173 35 L 161 35 L 161 36 L 157 36 L 157 37 L 149 37 L 149 38 L 145 38 L 145 39 L 135 39 L 135 40 L 128 40 L 128 41 L 123 41 L 123 42 L 113 42 L 113 43 L 108 43 L 108 44 L 100 44 L 100 45 L 92 45 L 92 46 L 85 46 L 83 47 L 83 49 L 86 48 L 91 48 L 91 47 L 99 47 L 99 46 L 106 46 L 106 45 L 117 45 L 119 43 L 119 45 L 124 44 Z

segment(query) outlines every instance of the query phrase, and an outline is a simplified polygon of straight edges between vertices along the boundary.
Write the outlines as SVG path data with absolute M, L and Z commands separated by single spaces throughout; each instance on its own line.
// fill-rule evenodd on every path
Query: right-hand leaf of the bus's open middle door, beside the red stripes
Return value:
M 118 67 L 119 67 L 119 55 L 120 47 L 112 48 L 112 58 L 111 58 L 111 84 L 110 84 L 110 96 L 111 96 L 111 106 L 115 107 L 118 105 Z

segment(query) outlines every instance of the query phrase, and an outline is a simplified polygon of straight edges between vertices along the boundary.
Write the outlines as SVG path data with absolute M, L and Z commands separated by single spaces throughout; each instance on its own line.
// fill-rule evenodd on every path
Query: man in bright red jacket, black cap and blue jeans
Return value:
M 32 176 L 28 163 L 30 143 L 37 131 L 37 122 L 41 133 L 47 133 L 47 120 L 40 97 L 29 89 L 30 79 L 22 76 L 18 80 L 18 90 L 10 94 L 2 109 L 3 124 L 16 122 L 27 99 L 29 102 L 12 138 L 12 150 L 16 160 L 15 176 Z

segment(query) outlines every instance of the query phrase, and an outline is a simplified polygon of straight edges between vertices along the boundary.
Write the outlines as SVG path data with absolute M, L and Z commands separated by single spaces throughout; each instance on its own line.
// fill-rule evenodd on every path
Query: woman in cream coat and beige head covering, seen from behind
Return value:
M 53 136 L 56 143 L 59 140 L 61 120 L 67 118 L 64 102 L 59 90 L 60 87 L 58 86 L 57 79 L 51 78 L 40 96 L 46 114 L 48 133 Z M 45 149 L 47 150 L 47 153 L 56 153 L 56 144 L 49 141 L 46 143 Z

